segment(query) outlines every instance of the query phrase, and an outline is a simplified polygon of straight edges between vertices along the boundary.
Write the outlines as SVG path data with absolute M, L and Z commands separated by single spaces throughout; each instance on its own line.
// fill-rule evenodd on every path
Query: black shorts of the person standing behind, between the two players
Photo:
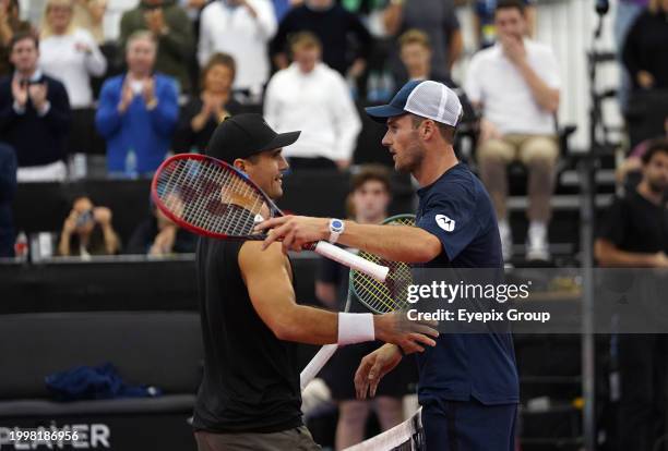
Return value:
M 355 399 L 355 371 L 367 354 L 379 349 L 380 341 L 349 344 L 341 348 L 330 358 L 320 377 L 324 379 L 336 401 Z M 378 386 L 377 397 L 401 398 L 416 392 L 418 374 L 415 357 L 406 356 L 402 363 L 383 377 Z

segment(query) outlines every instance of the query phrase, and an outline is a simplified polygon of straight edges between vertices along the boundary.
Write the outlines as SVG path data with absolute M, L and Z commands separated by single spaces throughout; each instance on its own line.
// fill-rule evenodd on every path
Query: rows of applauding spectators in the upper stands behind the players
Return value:
M 90 145 L 72 148 L 87 114 L 106 143 L 108 176 L 150 176 L 169 153 L 205 151 L 220 121 L 252 107 L 278 132 L 302 131 L 285 149 L 293 169 L 345 171 L 362 123 L 355 102 L 386 101 L 405 82 L 430 78 L 458 89 L 474 123 L 504 257 L 513 249 L 505 169 L 518 161 L 528 169 L 526 257 L 548 259 L 561 62 L 532 38 L 532 1 L 499 0 L 500 16 L 497 1 L 472 0 L 480 50 L 453 81 L 464 3 L 46 0 L 31 24 L 17 0 L 0 0 L 0 143 L 13 150 L 5 160 L 15 160 L 19 182 L 65 180 L 68 156 Z M 668 0 L 619 2 L 619 92 L 630 118 L 652 101 L 665 110 L 657 93 L 668 87 L 667 11 Z M 659 113 L 629 123 L 640 147 L 627 169 L 637 169 L 643 142 L 668 121 Z

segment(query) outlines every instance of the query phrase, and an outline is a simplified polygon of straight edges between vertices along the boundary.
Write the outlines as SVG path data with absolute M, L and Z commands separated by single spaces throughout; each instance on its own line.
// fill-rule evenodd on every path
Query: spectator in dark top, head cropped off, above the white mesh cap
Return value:
M 431 70 L 436 80 L 449 80 L 464 44 L 453 0 L 395 0 L 385 13 L 385 25 L 394 36 L 416 28 L 429 36 L 432 46 Z M 397 68 L 397 80 L 405 80 Z

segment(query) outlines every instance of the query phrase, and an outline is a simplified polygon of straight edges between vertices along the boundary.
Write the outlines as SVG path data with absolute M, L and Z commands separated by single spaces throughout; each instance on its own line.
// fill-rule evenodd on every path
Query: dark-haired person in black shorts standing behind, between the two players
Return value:
M 353 178 L 349 205 L 355 221 L 378 224 L 387 217 L 387 207 L 392 199 L 387 172 L 383 167 L 369 166 Z M 343 310 L 347 291 L 348 268 L 329 259 L 321 259 L 315 281 L 317 296 L 333 309 Z M 367 310 L 353 301 L 349 312 Z M 365 355 L 378 348 L 379 343 L 374 342 L 342 348 L 323 368 L 322 378 L 332 392 L 332 399 L 338 403 L 335 442 L 337 450 L 363 440 L 367 419 L 373 407 L 382 430 L 396 426 L 403 419 L 402 398 L 408 392 L 406 388 L 411 373 L 409 366 L 411 362 L 404 362 L 399 368 L 385 376 L 373 401 L 356 400 L 353 380 L 357 365 Z

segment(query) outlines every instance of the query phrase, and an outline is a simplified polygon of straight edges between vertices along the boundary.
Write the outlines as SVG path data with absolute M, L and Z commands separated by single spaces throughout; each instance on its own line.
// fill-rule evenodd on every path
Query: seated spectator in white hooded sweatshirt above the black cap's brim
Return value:
M 266 122 L 278 132 L 302 130 L 299 141 L 284 149 L 293 169 L 346 169 L 361 130 L 345 80 L 320 61 L 321 50 L 315 35 L 298 33 L 291 40 L 295 61 L 266 87 Z

